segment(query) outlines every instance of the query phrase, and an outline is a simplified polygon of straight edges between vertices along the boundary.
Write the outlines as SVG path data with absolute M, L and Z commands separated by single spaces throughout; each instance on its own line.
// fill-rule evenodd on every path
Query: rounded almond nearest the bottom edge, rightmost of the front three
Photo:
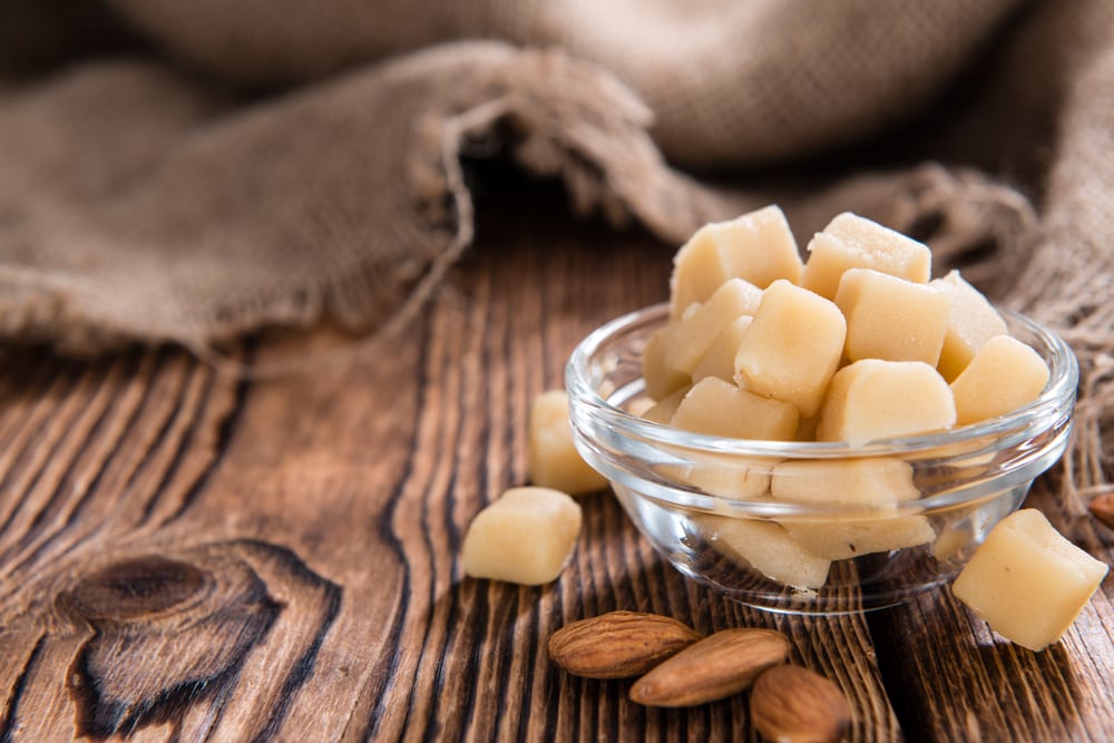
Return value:
M 801 666 L 770 668 L 751 691 L 754 729 L 779 743 L 834 743 L 851 726 L 851 706 L 839 687 Z

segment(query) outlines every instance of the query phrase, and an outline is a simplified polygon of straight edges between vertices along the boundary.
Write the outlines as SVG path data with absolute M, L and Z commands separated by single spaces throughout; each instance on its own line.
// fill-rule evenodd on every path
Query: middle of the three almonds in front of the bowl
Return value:
M 687 707 L 731 696 L 789 655 L 789 638 L 773 629 L 722 629 L 690 645 L 635 682 L 631 701 Z

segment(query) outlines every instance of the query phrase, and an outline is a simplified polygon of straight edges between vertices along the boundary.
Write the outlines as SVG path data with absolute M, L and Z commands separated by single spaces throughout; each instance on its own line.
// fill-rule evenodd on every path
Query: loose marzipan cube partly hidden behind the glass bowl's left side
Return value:
M 565 390 L 543 392 L 530 407 L 527 468 L 534 485 L 573 495 L 607 487 L 604 476 L 580 458 L 573 443 Z

